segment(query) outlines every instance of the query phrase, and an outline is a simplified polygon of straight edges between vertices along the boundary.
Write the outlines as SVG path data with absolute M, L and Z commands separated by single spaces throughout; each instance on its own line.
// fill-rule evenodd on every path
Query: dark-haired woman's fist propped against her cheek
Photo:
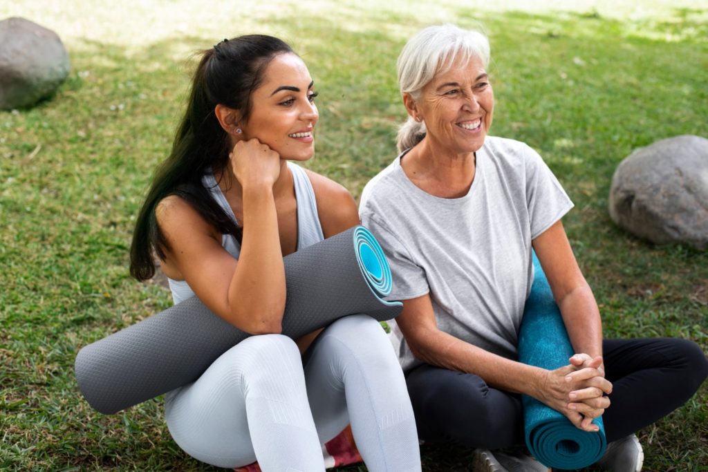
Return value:
M 280 177 L 280 154 L 256 138 L 237 142 L 229 159 L 234 176 L 244 188 L 252 185 L 272 188 Z

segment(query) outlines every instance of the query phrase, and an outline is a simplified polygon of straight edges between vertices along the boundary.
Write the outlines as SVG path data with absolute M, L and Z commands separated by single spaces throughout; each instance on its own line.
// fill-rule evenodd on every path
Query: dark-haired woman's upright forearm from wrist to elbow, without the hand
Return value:
M 229 306 L 253 334 L 280 333 L 285 268 L 272 188 L 244 188 L 244 234 Z

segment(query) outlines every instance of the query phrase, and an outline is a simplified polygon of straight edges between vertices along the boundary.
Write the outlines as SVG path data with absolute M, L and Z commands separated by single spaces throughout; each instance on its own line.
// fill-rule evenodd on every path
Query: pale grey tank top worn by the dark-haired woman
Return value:
M 290 169 L 292 180 L 295 182 L 295 200 L 297 200 L 296 251 L 299 251 L 302 248 L 307 248 L 307 246 L 322 241 L 324 234 L 322 233 L 322 226 L 319 223 L 314 190 L 312 189 L 312 183 L 310 183 L 307 177 L 307 173 L 305 173 L 302 167 L 290 161 L 287 161 L 287 168 Z M 202 177 L 202 185 L 210 191 L 212 198 L 222 207 L 224 212 L 237 223 L 236 216 L 219 188 L 214 175 L 211 173 L 205 174 L 204 177 Z M 226 249 L 229 254 L 233 255 L 234 258 L 239 258 L 241 245 L 232 234 L 222 235 L 222 246 L 224 246 L 224 249 Z M 173 280 L 168 277 L 167 281 L 170 284 L 172 299 L 175 304 L 194 296 L 194 292 L 189 284 L 187 284 L 186 280 Z

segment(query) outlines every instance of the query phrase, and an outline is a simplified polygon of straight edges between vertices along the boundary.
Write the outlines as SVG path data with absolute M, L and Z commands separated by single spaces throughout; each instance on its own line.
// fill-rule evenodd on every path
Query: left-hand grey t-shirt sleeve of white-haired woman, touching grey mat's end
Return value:
M 393 276 L 393 288 L 387 300 L 408 300 L 430 292 L 423 267 L 416 264 L 408 248 L 375 214 L 364 212 L 362 224 L 374 234 L 386 255 Z

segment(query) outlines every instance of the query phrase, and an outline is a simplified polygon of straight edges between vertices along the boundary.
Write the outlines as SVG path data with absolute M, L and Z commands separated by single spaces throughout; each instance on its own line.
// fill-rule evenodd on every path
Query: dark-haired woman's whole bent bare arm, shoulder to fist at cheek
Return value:
M 234 147 L 232 168 L 243 188 L 244 237 L 236 260 L 221 235 L 187 202 L 167 197 L 156 210 L 171 250 L 166 263 L 181 273 L 215 313 L 251 334 L 280 333 L 285 307 L 273 183 L 284 163 L 256 139 Z

